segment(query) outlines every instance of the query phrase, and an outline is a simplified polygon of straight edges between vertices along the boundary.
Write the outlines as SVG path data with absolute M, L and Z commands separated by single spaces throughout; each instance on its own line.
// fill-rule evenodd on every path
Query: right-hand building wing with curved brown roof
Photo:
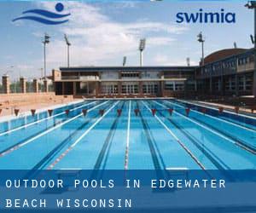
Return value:
M 253 49 L 222 49 L 205 58 L 196 68 L 199 94 L 256 95 Z M 253 93 L 254 90 L 254 93 Z

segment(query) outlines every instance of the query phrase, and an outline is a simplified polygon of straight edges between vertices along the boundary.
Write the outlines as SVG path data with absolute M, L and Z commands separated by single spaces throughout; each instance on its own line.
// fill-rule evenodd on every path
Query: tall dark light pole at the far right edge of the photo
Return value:
M 256 1 L 249 1 L 245 7 L 254 10 L 254 37 L 251 36 L 253 42 L 253 55 L 254 55 L 254 71 L 253 71 L 253 96 L 256 97 Z

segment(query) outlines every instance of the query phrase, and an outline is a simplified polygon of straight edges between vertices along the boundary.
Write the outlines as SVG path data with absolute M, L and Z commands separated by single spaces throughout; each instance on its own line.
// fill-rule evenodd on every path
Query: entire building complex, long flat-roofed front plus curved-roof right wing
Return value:
M 56 95 L 189 97 L 256 95 L 253 49 L 222 49 L 204 66 L 79 66 L 53 71 Z

